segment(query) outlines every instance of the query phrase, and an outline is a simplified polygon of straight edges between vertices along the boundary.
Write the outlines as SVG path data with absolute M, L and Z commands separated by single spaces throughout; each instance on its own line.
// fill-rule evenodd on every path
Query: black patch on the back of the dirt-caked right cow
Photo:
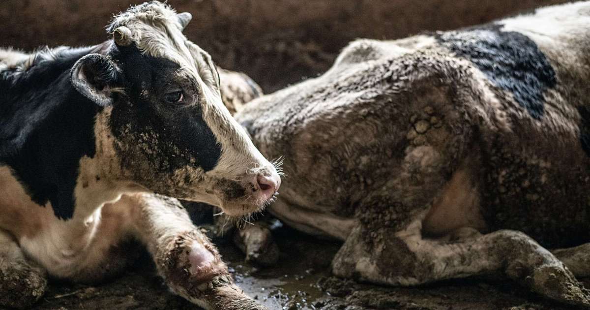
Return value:
M 489 24 L 435 38 L 475 64 L 496 87 L 512 93 L 532 118 L 540 119 L 545 112 L 543 93 L 555 86 L 555 71 L 535 42 L 519 32 L 500 31 L 501 27 Z

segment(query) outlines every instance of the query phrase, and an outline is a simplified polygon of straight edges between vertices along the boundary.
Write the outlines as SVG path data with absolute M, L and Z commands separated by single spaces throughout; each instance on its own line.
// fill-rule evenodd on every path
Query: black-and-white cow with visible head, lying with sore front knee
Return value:
M 280 185 L 224 107 L 211 57 L 182 34 L 190 19 L 149 2 L 114 17 L 99 45 L 0 50 L 0 305 L 30 305 L 47 275 L 113 275 L 137 239 L 189 301 L 262 308 L 162 196 L 239 217 Z

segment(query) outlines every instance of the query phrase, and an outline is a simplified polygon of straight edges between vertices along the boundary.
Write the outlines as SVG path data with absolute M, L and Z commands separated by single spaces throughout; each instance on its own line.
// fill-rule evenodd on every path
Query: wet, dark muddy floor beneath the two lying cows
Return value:
M 280 265 L 267 268 L 244 263 L 244 254 L 230 239 L 215 239 L 238 285 L 269 309 L 566 309 L 502 280 L 461 279 L 392 288 L 339 279 L 329 272 L 339 242 L 317 240 L 289 227 L 278 227 L 273 234 L 281 250 Z M 102 285 L 51 283 L 34 309 L 200 308 L 169 293 L 148 254 L 142 254 L 128 272 Z

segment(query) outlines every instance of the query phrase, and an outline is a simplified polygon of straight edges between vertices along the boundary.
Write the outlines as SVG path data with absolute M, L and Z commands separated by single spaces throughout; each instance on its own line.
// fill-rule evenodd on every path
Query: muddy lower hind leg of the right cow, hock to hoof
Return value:
M 520 231 L 471 234 L 449 242 L 404 231 L 357 227 L 332 262 L 338 276 L 418 285 L 476 275 L 504 275 L 546 298 L 590 307 L 590 293 L 557 257 Z

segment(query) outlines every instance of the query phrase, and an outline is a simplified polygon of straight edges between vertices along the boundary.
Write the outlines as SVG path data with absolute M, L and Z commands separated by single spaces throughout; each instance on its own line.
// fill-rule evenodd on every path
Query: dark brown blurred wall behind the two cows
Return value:
M 141 0 L 0 0 L 0 46 L 91 45 Z M 170 0 L 187 37 L 266 92 L 329 68 L 355 38 L 395 39 L 480 24 L 563 0 Z

